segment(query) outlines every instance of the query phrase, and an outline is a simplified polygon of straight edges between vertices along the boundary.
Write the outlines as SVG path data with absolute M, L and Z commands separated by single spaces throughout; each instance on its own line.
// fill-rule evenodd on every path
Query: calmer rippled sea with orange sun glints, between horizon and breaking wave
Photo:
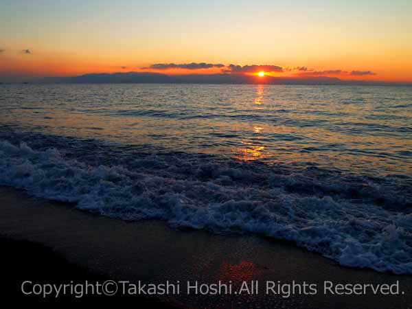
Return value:
M 358 90 L 267 84 L 4 85 L 0 124 L 4 130 L 98 139 L 141 151 L 313 162 L 368 175 L 411 174 L 411 89 Z

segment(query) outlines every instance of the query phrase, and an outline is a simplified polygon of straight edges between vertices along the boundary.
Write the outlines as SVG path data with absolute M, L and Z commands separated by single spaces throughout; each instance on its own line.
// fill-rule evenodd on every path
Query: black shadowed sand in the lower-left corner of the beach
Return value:
M 49 247 L 35 242 L 25 240 L 12 240 L 1 238 L 1 299 L 9 301 L 14 305 L 40 304 L 93 304 L 117 305 L 119 301 L 130 301 L 131 304 L 141 308 L 155 306 L 155 308 L 173 309 L 178 308 L 171 304 L 149 297 L 124 297 L 114 295 L 112 297 L 102 297 L 99 295 L 84 295 L 73 297 L 71 295 L 60 295 L 59 297 L 38 297 L 37 295 L 23 295 L 21 284 L 29 279 L 31 282 L 39 284 L 67 284 L 72 281 L 80 282 L 105 282 L 109 278 L 102 273 L 90 271 L 87 267 L 68 262 L 61 254 Z M 27 289 L 28 290 L 28 289 Z

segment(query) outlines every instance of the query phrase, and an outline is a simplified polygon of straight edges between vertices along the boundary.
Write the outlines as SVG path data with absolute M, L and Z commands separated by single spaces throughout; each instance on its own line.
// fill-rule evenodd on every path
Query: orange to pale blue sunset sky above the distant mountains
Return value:
M 0 81 L 226 73 L 412 82 L 410 0 L 1 0 Z

